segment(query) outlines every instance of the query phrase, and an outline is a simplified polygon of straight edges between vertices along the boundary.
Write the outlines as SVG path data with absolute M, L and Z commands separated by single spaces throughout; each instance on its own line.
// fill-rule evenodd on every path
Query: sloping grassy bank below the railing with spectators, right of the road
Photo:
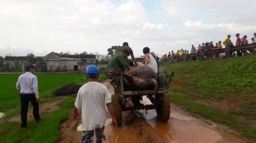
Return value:
M 174 63 L 170 100 L 256 141 L 256 55 Z

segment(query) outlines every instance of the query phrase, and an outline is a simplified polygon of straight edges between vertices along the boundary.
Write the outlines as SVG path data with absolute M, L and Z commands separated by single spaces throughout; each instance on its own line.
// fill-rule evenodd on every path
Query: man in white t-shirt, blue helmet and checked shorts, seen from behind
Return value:
M 82 110 L 82 143 L 93 142 L 94 131 L 97 143 L 105 140 L 103 134 L 106 121 L 105 105 L 112 117 L 111 124 L 117 126 L 110 94 L 104 84 L 97 82 L 98 77 L 98 67 L 90 65 L 86 68 L 86 78 L 89 82 L 79 89 L 75 101 L 74 120 L 79 116 L 78 109 Z

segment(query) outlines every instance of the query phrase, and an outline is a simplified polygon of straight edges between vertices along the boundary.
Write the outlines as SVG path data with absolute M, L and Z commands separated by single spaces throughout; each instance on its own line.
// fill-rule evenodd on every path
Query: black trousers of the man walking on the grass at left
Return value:
M 28 115 L 28 107 L 29 101 L 33 106 L 33 116 L 36 121 L 40 119 L 39 116 L 39 104 L 36 101 L 35 94 L 20 94 L 20 118 L 22 119 L 21 127 L 27 127 L 27 115 Z

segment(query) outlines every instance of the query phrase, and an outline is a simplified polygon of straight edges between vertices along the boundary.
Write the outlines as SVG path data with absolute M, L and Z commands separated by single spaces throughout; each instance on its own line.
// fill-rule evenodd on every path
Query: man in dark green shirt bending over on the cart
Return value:
M 129 50 L 123 49 L 121 53 L 118 53 L 115 56 L 113 56 L 113 58 L 109 61 L 108 68 L 106 69 L 106 71 L 108 72 L 108 78 L 112 79 L 112 74 L 115 73 L 116 67 L 121 69 L 122 72 L 125 70 L 130 71 L 134 69 L 133 67 L 130 67 L 130 65 L 126 61 L 127 56 L 129 55 Z

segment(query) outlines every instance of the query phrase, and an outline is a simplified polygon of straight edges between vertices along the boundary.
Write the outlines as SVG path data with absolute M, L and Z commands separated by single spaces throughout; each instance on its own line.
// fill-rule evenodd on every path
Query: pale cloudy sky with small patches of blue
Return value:
M 158 56 L 256 33 L 255 0 L 0 0 L 0 56 L 107 54 L 128 42 Z

